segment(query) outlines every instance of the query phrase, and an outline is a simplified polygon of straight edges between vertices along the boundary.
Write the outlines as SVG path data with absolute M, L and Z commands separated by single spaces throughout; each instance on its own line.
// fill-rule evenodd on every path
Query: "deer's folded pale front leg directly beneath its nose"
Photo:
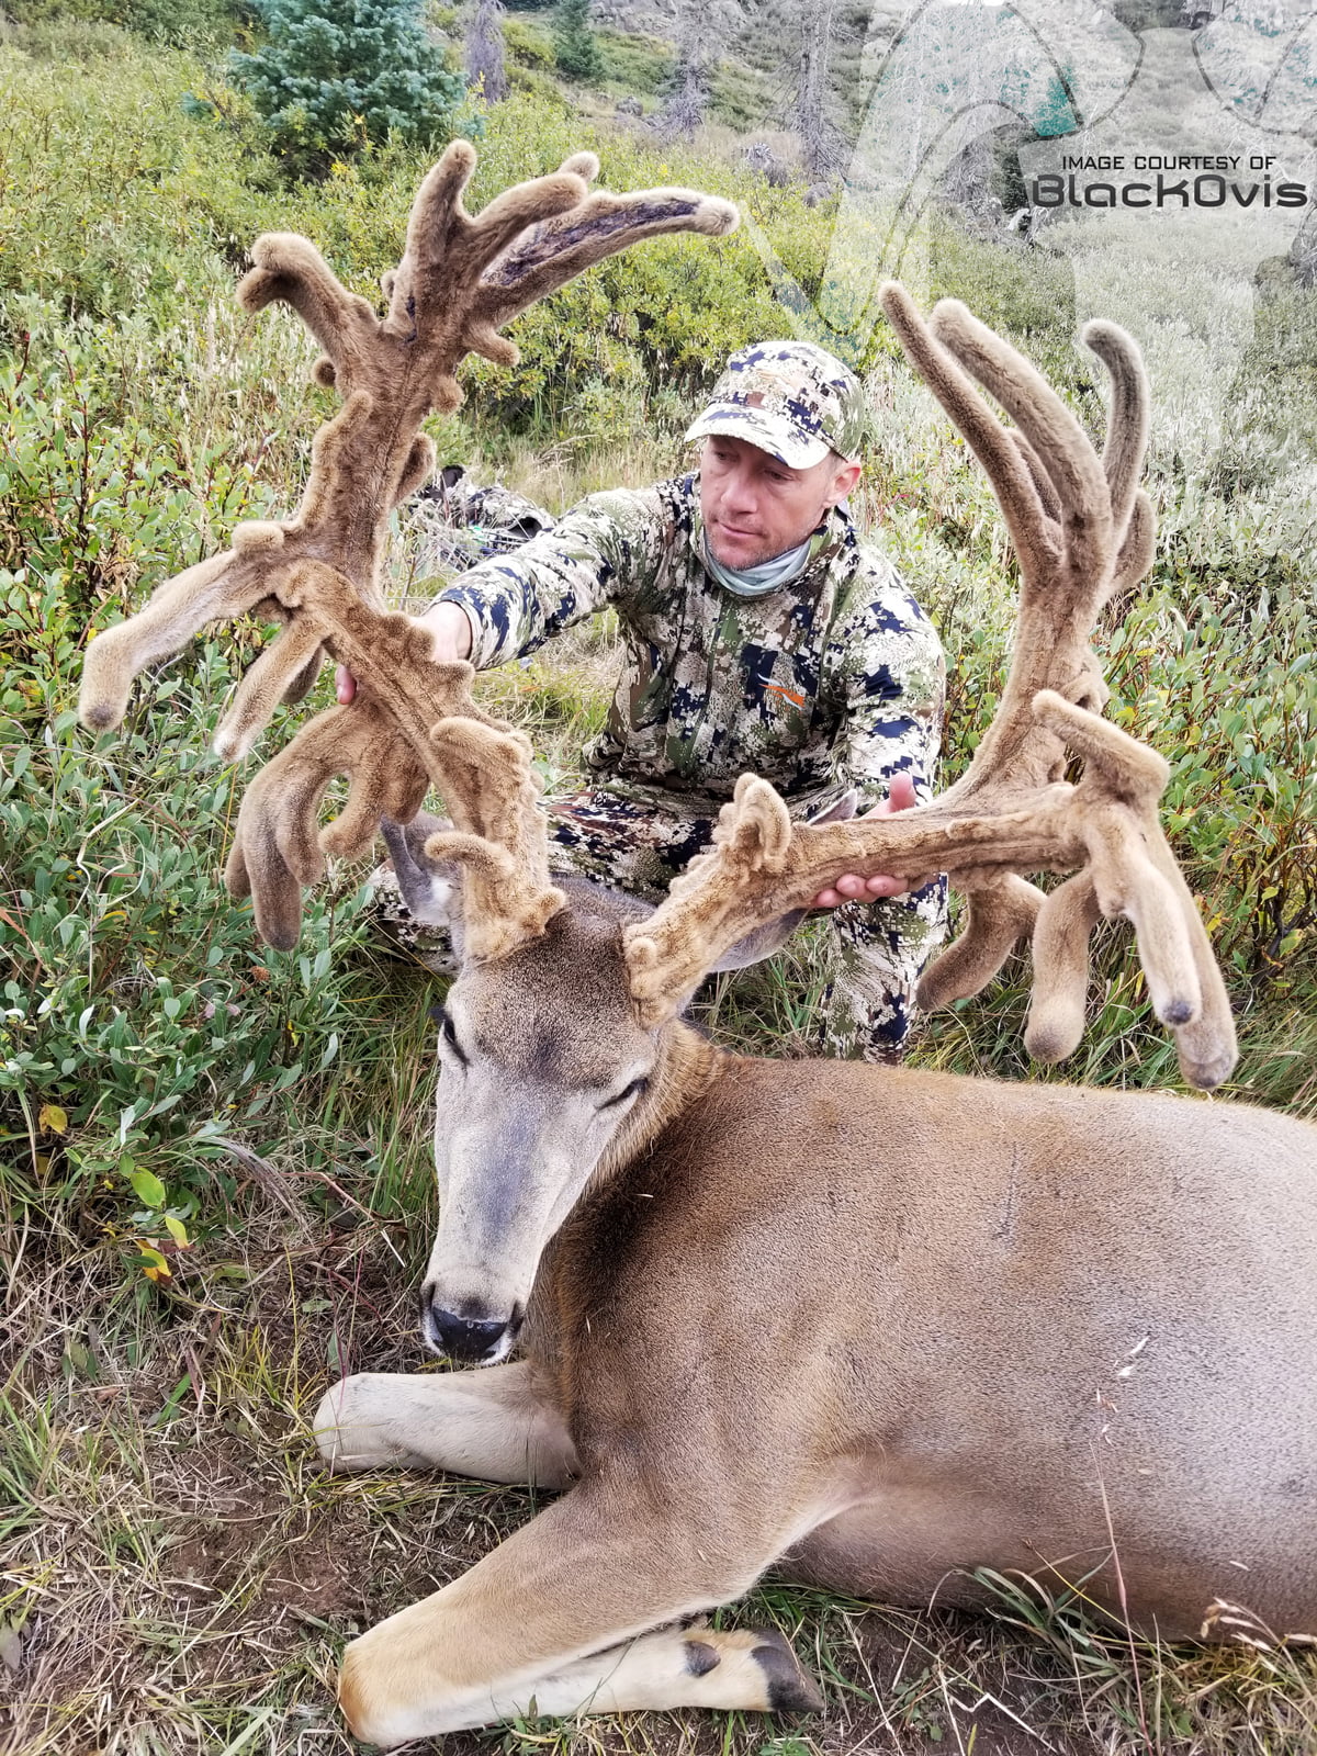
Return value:
M 529 1361 L 483 1371 L 358 1371 L 314 1419 L 332 1470 L 451 1470 L 483 1482 L 565 1487 L 576 1452 Z

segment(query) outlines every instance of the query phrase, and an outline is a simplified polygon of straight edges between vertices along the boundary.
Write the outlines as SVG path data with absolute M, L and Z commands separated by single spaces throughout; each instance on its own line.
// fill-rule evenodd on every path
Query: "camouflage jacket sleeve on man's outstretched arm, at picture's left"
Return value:
M 643 597 L 667 523 L 655 490 L 592 493 L 553 530 L 471 567 L 435 602 L 465 609 L 478 671 L 522 658 L 608 604 Z

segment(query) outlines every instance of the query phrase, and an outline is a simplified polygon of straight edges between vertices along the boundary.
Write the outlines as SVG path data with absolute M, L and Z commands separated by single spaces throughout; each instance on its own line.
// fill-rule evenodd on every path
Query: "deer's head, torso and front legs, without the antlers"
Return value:
M 1171 1638 L 1222 1603 L 1317 1630 L 1317 1129 L 636 1033 L 606 908 L 450 994 L 427 1322 L 523 1310 L 525 1357 L 351 1377 L 316 1417 L 341 1468 L 567 1489 L 349 1645 L 358 1735 L 811 1705 L 771 1637 L 651 1631 L 769 1566 L 943 1605 L 1015 1570 Z M 597 1157 L 546 1148 L 643 1041 Z

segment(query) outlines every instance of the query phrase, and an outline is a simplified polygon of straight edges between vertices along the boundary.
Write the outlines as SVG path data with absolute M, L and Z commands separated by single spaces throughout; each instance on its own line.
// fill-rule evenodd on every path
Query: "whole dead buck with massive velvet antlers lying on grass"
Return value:
M 1082 1029 L 1089 932 L 1126 915 L 1185 1075 L 1226 1076 L 1229 1008 L 1157 824 L 1166 767 L 1094 711 L 1092 620 L 1152 553 L 1131 344 L 1087 332 L 1113 386 L 1099 460 L 962 307 L 925 328 L 889 288 L 1020 557 L 1011 678 L 973 766 L 918 810 L 806 827 L 746 776 L 716 848 L 653 915 L 618 917 L 592 892 L 569 904 L 525 739 L 474 708 L 469 667 L 430 662 L 428 637 L 371 601 L 388 509 L 428 467 L 416 423 L 451 400 L 462 349 L 506 348 L 500 313 L 632 221 L 727 223 L 687 191 L 585 197 L 579 169 L 472 221 L 457 198 L 469 149 L 450 149 L 383 323 L 309 246 L 267 241 L 248 302 L 295 304 L 348 392 L 302 511 L 246 527 L 88 658 L 84 713 L 105 727 L 149 658 L 272 606 L 288 629 L 244 680 L 228 750 L 306 683 L 321 643 L 367 683 L 244 801 L 230 883 L 274 943 L 297 936 L 321 846 L 362 846 L 381 811 L 407 822 L 427 778 L 455 822 L 428 845 L 460 874 L 464 966 L 441 1033 L 425 1326 L 493 1364 L 351 1377 L 316 1429 L 341 1468 L 567 1491 L 348 1647 L 349 1723 L 399 1744 L 532 1702 L 811 1705 L 780 1637 L 671 1626 L 773 1565 L 915 1603 L 973 1603 L 973 1570 L 992 1566 L 1083 1580 L 1164 1635 L 1222 1635 L 1226 1600 L 1280 1635 L 1312 1630 L 1315 1129 L 1247 1106 L 748 1059 L 680 1017 L 723 948 L 838 871 L 943 869 L 969 918 L 925 1003 L 975 992 L 1029 936 L 1029 1047 L 1061 1057 Z M 348 810 L 318 836 L 344 769 Z M 1036 871 L 1073 876 L 1045 897 L 1022 876 Z

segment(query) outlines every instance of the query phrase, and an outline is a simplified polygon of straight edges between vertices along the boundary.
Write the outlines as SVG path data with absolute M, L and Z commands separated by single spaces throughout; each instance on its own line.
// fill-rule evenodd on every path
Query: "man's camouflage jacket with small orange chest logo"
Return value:
M 520 658 L 613 606 L 627 664 L 587 766 L 657 808 L 729 799 L 750 769 L 811 817 L 906 771 L 932 788 L 945 666 L 932 623 L 843 509 L 806 567 L 766 597 L 704 569 L 699 481 L 594 493 L 544 536 L 462 574 L 443 599 L 472 622 L 478 669 Z

